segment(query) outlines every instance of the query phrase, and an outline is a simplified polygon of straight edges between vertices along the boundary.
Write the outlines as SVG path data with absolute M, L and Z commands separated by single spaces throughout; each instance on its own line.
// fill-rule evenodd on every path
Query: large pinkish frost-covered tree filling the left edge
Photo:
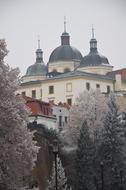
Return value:
M 4 64 L 7 53 L 0 40 L 0 189 L 19 190 L 28 182 L 38 148 L 27 129 L 25 104 L 15 95 L 19 71 Z

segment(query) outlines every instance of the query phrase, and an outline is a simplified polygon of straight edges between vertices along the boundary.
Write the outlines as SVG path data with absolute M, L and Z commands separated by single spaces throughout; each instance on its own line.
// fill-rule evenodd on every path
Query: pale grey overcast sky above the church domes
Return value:
M 9 49 L 7 63 L 25 74 L 35 62 L 40 35 L 44 62 L 60 45 L 64 16 L 70 43 L 89 53 L 92 24 L 98 51 L 114 69 L 126 67 L 126 0 L 0 0 L 0 38 Z

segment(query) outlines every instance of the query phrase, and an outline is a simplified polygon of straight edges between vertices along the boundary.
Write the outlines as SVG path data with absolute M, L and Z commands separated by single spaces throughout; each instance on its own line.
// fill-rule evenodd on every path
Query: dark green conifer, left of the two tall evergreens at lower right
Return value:
M 94 188 L 94 142 L 90 137 L 89 127 L 84 121 L 78 139 L 76 151 L 76 179 L 77 190 L 90 190 Z

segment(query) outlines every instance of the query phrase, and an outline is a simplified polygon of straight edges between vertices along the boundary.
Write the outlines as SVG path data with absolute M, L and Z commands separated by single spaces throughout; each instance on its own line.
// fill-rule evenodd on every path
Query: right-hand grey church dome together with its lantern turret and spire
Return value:
M 90 40 L 90 52 L 88 55 L 83 57 L 79 67 L 100 66 L 100 65 L 109 65 L 109 61 L 107 57 L 101 55 L 98 52 L 97 40 L 94 38 L 94 33 L 93 33 L 92 39 Z

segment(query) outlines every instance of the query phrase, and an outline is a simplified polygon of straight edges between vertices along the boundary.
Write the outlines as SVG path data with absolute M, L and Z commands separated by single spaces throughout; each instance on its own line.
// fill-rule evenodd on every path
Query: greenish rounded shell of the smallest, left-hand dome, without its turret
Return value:
M 47 74 L 47 67 L 42 63 L 35 63 L 28 67 L 27 76 L 45 76 Z

